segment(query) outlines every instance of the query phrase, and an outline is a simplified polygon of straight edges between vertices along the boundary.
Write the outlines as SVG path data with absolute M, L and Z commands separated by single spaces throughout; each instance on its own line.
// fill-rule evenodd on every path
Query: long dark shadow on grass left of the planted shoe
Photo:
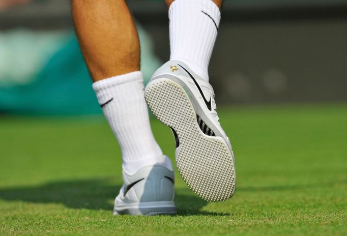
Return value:
M 121 186 L 107 185 L 108 180 L 51 182 L 39 186 L 0 189 L 0 199 L 34 203 L 61 203 L 68 208 L 110 210 L 110 200 Z

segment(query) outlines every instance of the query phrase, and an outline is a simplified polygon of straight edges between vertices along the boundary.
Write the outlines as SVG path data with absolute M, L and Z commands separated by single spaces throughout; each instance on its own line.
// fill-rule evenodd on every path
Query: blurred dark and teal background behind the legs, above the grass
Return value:
M 166 6 L 159 0 L 128 4 L 140 28 L 148 80 L 169 58 Z M 0 111 L 100 113 L 69 0 L 0 10 Z M 346 28 L 347 1 L 224 1 L 210 65 L 217 103 L 346 101 Z

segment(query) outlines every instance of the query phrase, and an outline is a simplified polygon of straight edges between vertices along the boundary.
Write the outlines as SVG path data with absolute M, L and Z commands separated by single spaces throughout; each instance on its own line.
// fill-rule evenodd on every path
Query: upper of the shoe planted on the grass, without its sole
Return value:
M 173 171 L 152 165 L 130 175 L 123 171 L 124 185 L 115 198 L 115 205 L 151 201 L 173 201 L 175 175 Z

